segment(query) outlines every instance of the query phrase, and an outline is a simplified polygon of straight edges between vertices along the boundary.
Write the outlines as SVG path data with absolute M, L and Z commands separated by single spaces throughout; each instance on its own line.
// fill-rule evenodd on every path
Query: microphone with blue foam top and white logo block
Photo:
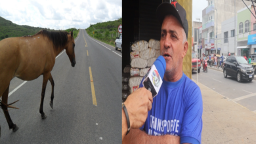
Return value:
M 163 75 L 165 74 L 166 62 L 163 56 L 158 56 L 154 64 L 148 70 L 142 82 L 143 86 L 150 90 L 153 98 L 158 94 L 161 84 L 163 83 Z

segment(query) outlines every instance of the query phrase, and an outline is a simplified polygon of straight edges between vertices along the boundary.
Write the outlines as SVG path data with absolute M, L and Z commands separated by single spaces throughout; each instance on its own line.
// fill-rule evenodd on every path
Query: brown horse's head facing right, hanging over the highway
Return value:
M 73 31 L 68 35 L 68 43 L 66 46 L 66 53 L 68 54 L 68 58 L 70 58 L 70 62 L 72 67 L 75 66 L 75 41 L 73 37 Z

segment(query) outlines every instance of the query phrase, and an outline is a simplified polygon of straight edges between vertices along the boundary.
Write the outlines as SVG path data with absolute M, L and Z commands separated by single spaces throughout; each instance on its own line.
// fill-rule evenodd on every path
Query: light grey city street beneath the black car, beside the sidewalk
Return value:
M 196 80 L 196 71 L 192 71 L 192 79 Z M 207 73 L 203 71 L 198 73 L 198 82 L 218 92 L 223 98 L 228 98 L 256 113 L 255 80 L 251 82 L 238 82 L 235 78 L 230 76 L 224 78 L 223 72 L 221 71 L 208 69 Z

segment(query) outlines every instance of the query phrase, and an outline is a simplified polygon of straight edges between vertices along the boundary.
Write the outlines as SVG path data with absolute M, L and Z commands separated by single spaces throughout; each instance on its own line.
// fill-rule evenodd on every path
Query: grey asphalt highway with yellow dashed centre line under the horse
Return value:
M 43 76 L 28 82 L 12 79 L 9 103 L 19 99 L 14 104 L 19 109 L 9 109 L 9 113 L 19 129 L 9 130 L 1 111 L 0 143 L 121 143 L 121 52 L 80 29 L 75 59 L 72 67 L 66 52 L 56 58 L 51 71 L 53 109 L 48 82 L 45 120 L 39 113 Z

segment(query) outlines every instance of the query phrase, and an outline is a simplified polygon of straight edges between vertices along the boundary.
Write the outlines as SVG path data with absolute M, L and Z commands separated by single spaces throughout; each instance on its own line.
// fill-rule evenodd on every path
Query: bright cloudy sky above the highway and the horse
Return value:
M 122 8 L 121 0 L 1 0 L 0 16 L 18 25 L 87 28 L 121 18 Z

